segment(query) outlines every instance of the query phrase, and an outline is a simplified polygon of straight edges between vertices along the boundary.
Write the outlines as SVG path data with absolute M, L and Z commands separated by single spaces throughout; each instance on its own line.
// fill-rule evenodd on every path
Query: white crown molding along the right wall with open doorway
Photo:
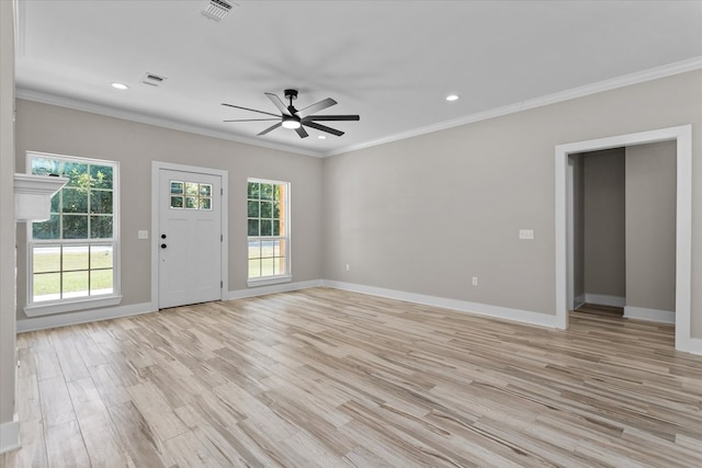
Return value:
M 324 157 L 331 157 L 342 155 L 346 152 L 358 151 L 360 149 L 371 148 L 378 145 L 384 145 L 406 138 L 416 137 L 419 135 L 430 134 L 448 128 L 458 127 L 461 125 L 473 124 L 480 121 L 487 121 L 489 118 L 500 117 L 503 115 L 514 114 L 530 109 L 541 107 L 544 105 L 556 104 L 564 101 L 570 101 L 578 98 L 584 98 L 591 94 L 601 93 L 604 91 L 615 90 L 619 88 L 629 87 L 632 84 L 638 84 L 646 81 L 657 80 L 659 78 L 666 78 L 673 75 L 684 73 L 687 71 L 693 71 L 702 68 L 702 56 L 693 57 L 687 60 L 676 61 L 672 64 L 664 65 L 661 67 L 650 68 L 648 70 L 637 71 L 635 73 L 624 75 L 621 77 L 612 78 L 609 80 L 598 81 L 584 87 L 573 88 L 566 91 L 559 91 L 557 93 L 547 94 L 541 98 L 530 99 L 518 103 L 505 105 L 501 107 L 491 109 L 485 112 L 478 112 L 475 114 L 466 115 L 464 117 L 454 118 L 451 121 L 441 122 L 438 124 L 429 125 L 426 127 L 416 128 L 409 132 L 403 132 L 399 134 L 390 135 L 384 138 L 378 138 L 372 141 L 367 141 L 360 145 L 349 146 L 347 148 L 335 150 L 324 153 Z

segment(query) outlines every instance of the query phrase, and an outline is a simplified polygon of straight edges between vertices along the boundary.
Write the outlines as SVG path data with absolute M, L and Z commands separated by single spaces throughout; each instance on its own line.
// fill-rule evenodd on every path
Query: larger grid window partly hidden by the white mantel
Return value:
M 27 153 L 33 174 L 68 179 L 29 229 L 29 305 L 115 295 L 117 164 Z

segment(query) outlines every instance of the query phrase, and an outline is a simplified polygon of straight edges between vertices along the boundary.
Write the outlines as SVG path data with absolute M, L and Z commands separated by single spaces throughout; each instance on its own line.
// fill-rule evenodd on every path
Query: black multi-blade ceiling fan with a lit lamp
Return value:
M 337 101 L 332 100 L 331 98 L 327 98 L 322 101 L 308 105 L 307 107 L 301 109 L 298 111 L 293 105 L 293 101 L 297 99 L 297 90 L 285 90 L 284 93 L 285 93 L 285 99 L 290 101 L 288 106 L 285 106 L 283 101 L 278 95 L 273 93 L 265 93 L 268 99 L 270 99 L 273 105 L 275 105 L 275 107 L 278 107 L 278 110 L 281 112 L 281 115 L 271 114 L 270 112 L 257 111 L 256 109 L 241 107 L 240 105 L 226 104 L 224 102 L 222 103 L 222 105 L 226 105 L 229 107 L 242 109 L 245 111 L 258 112 L 259 114 L 272 115 L 275 118 L 245 118 L 245 119 L 224 121 L 224 122 L 279 121 L 276 124 L 271 125 L 270 127 L 268 127 L 267 129 L 258 134 L 257 136 L 260 137 L 282 126 L 283 128 L 294 129 L 295 132 L 297 132 L 297 135 L 299 135 L 301 138 L 306 138 L 309 135 L 307 134 L 307 132 L 305 132 L 303 126 L 315 128 L 317 130 L 326 132 L 328 134 L 340 137 L 341 135 L 343 135 L 343 132 L 338 130 L 336 128 L 328 127 L 326 125 L 318 124 L 317 122 L 359 121 L 360 119 L 358 115 L 313 115 L 315 112 L 322 111 L 327 107 L 331 107 L 332 105 L 335 105 Z

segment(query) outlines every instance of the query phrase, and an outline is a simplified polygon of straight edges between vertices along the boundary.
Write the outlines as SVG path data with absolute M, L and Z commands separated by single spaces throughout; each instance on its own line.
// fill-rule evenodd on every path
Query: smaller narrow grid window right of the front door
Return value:
M 290 275 L 287 182 L 249 180 L 247 229 L 249 279 Z

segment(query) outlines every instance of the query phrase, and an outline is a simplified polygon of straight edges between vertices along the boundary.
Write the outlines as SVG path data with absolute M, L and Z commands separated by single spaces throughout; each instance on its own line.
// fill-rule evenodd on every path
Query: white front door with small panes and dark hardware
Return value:
M 222 298 L 222 178 L 159 170 L 158 307 Z

